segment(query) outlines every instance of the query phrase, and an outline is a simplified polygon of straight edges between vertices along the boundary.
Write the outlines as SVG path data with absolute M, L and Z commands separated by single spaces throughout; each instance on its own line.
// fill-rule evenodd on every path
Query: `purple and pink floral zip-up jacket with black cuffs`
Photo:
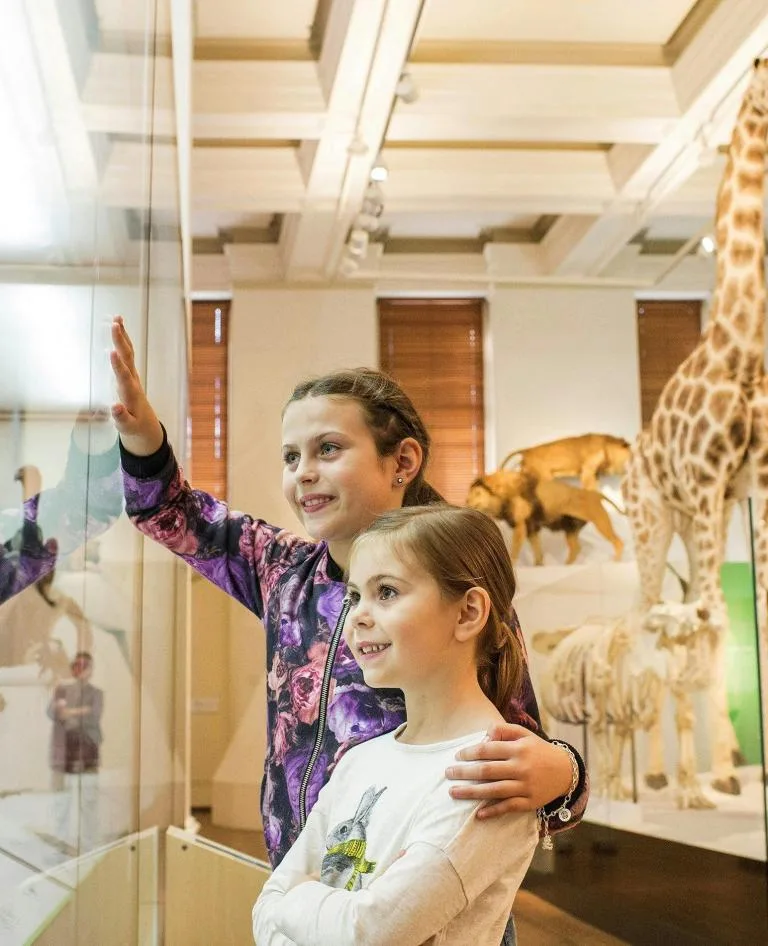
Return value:
M 399 690 L 373 690 L 341 631 L 343 575 L 325 542 L 307 542 L 227 505 L 183 479 L 167 441 L 151 457 L 122 451 L 126 511 L 137 528 L 253 611 L 267 634 L 267 757 L 261 810 L 278 864 L 341 756 L 405 718 Z M 526 672 L 508 718 L 538 729 Z M 581 763 L 580 763 L 581 764 Z M 572 825 L 586 807 L 583 767 Z M 555 802 L 552 811 L 558 807 Z M 550 819 L 550 830 L 563 827 Z

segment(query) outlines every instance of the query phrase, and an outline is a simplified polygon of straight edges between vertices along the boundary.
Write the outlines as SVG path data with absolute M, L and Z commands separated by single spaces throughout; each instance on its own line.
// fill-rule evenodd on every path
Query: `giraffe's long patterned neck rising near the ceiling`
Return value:
M 712 320 L 727 331 L 734 374 L 762 370 L 765 346 L 764 177 L 768 115 L 749 99 L 731 138 L 717 197 L 717 284 Z

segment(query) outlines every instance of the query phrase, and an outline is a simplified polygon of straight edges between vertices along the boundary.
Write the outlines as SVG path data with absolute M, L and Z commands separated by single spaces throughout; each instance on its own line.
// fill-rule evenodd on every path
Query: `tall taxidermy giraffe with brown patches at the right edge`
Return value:
M 757 61 L 717 197 L 717 282 L 710 321 L 695 350 L 667 382 L 649 427 L 632 445 L 622 485 L 643 609 L 660 600 L 667 551 L 677 532 L 690 562 L 689 598 L 697 598 L 723 628 L 713 650 L 709 728 L 713 786 L 730 794 L 741 789 L 728 716 L 728 621 L 720 569 L 733 503 L 749 473 L 753 409 L 764 374 L 767 137 L 768 62 Z M 768 485 L 768 477 L 766 481 Z M 666 784 L 662 760 L 652 759 L 650 765 L 648 783 Z M 695 798 L 696 785 L 681 788 Z

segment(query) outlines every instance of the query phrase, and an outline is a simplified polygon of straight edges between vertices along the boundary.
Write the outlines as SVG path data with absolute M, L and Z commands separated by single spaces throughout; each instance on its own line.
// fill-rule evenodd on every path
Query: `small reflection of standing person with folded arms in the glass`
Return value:
M 80 651 L 72 661 L 73 680 L 60 683 L 48 704 L 53 720 L 51 770 L 54 798 L 54 833 L 70 843 L 72 795 L 79 799 L 79 848 L 89 851 L 98 844 L 98 772 L 101 747 L 101 714 L 104 693 L 91 682 L 93 657 Z

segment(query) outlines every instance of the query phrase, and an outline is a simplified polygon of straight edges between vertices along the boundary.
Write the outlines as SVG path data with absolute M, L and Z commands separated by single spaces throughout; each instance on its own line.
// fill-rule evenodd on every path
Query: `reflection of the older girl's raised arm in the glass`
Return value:
M 23 591 L 89 538 L 104 532 L 122 510 L 117 443 L 108 415 L 83 410 L 72 432 L 64 476 L 40 492 L 39 474 L 22 467 L 22 508 L 0 515 L 0 604 Z

